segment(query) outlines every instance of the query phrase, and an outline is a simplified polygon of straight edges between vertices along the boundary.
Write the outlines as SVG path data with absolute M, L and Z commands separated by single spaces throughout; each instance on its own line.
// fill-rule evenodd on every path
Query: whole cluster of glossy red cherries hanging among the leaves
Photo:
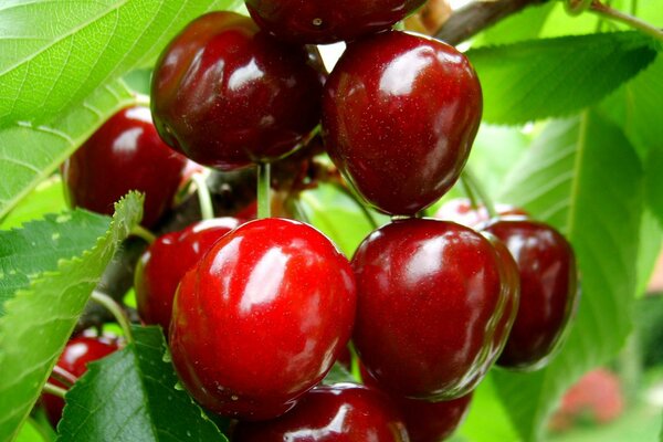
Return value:
M 189 393 L 239 420 L 235 441 L 439 441 L 495 364 L 539 368 L 568 328 L 576 264 L 556 230 L 457 202 L 418 217 L 461 176 L 482 114 L 462 53 L 389 30 L 423 2 L 246 0 L 253 20 L 206 14 L 156 65 L 156 129 L 148 109 L 125 109 L 63 168 L 73 206 L 107 212 L 127 189 L 146 191 L 149 227 L 189 160 L 266 168 L 322 122 L 336 167 L 392 215 L 351 261 L 276 218 L 202 221 L 141 256 L 141 319 L 168 332 Z M 312 44 L 340 40 L 327 74 Z M 319 386 L 350 338 L 366 386 Z

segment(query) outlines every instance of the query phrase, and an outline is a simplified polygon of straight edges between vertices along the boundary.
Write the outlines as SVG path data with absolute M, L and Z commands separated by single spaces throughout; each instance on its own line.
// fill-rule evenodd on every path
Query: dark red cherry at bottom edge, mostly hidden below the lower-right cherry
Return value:
M 380 389 L 362 364 L 359 365 L 364 383 Z M 473 391 L 457 399 L 430 402 L 391 396 L 398 411 L 404 419 L 410 442 L 440 442 L 446 440 L 463 422 L 470 411 Z

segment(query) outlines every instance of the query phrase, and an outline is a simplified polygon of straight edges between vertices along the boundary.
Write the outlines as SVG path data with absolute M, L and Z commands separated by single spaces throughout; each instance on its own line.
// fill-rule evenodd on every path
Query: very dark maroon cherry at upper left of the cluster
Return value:
M 303 46 L 233 12 L 191 22 L 157 62 L 151 107 L 166 143 L 223 170 L 290 154 L 320 116 L 320 73 Z

